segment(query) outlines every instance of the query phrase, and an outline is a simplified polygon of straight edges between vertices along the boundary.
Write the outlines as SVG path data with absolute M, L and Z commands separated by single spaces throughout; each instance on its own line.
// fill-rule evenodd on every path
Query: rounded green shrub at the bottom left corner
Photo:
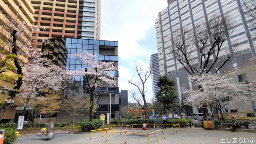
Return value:
M 3 144 L 14 144 L 17 140 L 15 129 L 5 128 L 4 129 L 4 143 Z

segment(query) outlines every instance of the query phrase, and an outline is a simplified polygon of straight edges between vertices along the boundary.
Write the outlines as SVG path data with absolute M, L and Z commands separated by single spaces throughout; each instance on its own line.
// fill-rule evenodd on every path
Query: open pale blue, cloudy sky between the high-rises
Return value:
M 136 77 L 133 65 L 149 61 L 157 52 L 154 20 L 165 7 L 167 0 L 102 0 L 101 39 L 118 41 L 119 90 L 131 89 L 127 80 Z M 151 84 L 150 77 L 146 85 L 149 102 L 153 98 Z

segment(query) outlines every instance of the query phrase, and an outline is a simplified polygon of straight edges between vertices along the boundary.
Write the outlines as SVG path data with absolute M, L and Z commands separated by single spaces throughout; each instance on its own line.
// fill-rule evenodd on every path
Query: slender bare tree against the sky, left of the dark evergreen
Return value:
M 134 70 L 138 75 L 138 78 L 133 77 L 129 79 L 128 82 L 132 84 L 136 90 L 138 90 L 138 93 L 140 93 L 141 95 L 140 98 L 142 98 L 144 105 L 141 103 L 139 96 L 137 96 L 136 94 L 132 94 L 133 95 L 132 98 L 134 98 L 134 100 L 138 102 L 138 104 L 142 107 L 143 110 L 148 110 L 145 93 L 147 91 L 146 82 L 152 72 L 152 65 L 150 63 L 146 63 L 145 65 L 136 64 L 134 66 Z M 134 90 L 133 92 L 135 92 Z M 145 118 L 148 118 L 148 112 L 145 112 Z

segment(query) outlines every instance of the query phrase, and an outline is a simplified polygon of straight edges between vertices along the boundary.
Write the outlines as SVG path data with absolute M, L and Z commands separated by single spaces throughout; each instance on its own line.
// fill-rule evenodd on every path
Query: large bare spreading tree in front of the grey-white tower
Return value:
M 201 75 L 203 72 L 218 73 L 234 57 L 234 41 L 229 48 L 225 45 L 234 30 L 234 22 L 229 16 L 213 14 L 208 20 L 197 25 L 195 32 L 187 28 L 175 30 L 171 39 L 174 48 L 170 50 L 190 75 Z M 206 118 L 206 105 L 202 110 Z

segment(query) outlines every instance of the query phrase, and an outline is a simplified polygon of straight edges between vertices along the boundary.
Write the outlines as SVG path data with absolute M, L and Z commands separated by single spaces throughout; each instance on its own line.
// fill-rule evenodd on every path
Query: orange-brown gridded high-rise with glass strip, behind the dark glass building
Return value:
M 50 38 L 100 39 L 101 0 L 31 0 L 35 9 L 34 34 L 38 51 Z

